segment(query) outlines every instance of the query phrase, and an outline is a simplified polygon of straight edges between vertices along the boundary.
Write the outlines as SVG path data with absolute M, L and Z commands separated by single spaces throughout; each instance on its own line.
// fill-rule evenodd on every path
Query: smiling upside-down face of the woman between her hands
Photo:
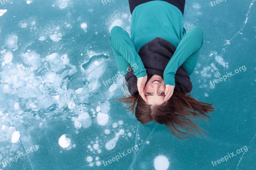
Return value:
M 161 105 L 164 103 L 165 84 L 161 76 L 153 75 L 145 85 L 144 94 L 148 105 Z

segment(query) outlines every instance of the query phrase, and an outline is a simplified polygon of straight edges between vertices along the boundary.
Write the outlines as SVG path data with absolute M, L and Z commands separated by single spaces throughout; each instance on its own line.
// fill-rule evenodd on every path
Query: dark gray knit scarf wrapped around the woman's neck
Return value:
M 139 55 L 141 61 L 146 69 L 148 80 L 154 75 L 159 75 L 164 78 L 164 69 L 169 60 L 174 54 L 176 48 L 162 38 L 155 38 L 140 48 Z M 131 69 L 132 66 L 130 66 Z M 128 90 L 132 96 L 138 92 L 137 77 L 134 75 L 133 70 L 128 71 L 125 75 Z M 147 80 L 147 82 L 148 82 Z M 189 75 L 185 71 L 184 66 L 180 66 L 175 74 L 175 88 L 178 92 L 191 92 L 192 83 Z

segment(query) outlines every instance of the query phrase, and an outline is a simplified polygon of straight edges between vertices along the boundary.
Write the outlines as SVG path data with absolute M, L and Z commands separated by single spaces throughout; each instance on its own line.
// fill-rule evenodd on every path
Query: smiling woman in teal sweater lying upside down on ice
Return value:
M 142 124 L 155 121 L 179 138 L 202 133 L 190 117 L 210 116 L 212 104 L 190 96 L 189 75 L 195 70 L 204 32 L 183 27 L 185 0 L 129 0 L 131 38 L 121 27 L 110 33 L 110 44 L 119 70 L 126 70 L 130 96 L 118 99 L 131 104 Z M 133 68 L 136 64 L 137 68 Z M 127 69 L 128 68 L 128 69 Z M 131 71 L 130 71 L 131 70 Z

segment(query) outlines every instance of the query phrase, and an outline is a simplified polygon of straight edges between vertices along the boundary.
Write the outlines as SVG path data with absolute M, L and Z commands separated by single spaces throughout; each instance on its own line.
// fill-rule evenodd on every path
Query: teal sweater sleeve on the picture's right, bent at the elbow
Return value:
M 182 38 L 164 70 L 165 85 L 175 85 L 174 76 L 181 64 L 188 75 L 193 73 L 203 43 L 204 31 L 200 26 L 194 27 Z

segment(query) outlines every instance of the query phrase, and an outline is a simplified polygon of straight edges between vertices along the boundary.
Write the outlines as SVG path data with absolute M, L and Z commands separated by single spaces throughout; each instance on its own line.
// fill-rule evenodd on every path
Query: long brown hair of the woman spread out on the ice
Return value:
M 176 90 L 174 90 L 172 97 L 162 105 L 147 105 L 139 95 L 139 92 L 134 96 L 130 95 L 115 100 L 131 104 L 131 106 L 124 108 L 132 111 L 132 114 L 134 113 L 134 107 L 137 102 L 137 106 L 135 107 L 135 117 L 139 122 L 146 124 L 155 121 L 164 124 L 174 136 L 180 139 L 185 139 L 191 136 L 200 137 L 196 131 L 204 135 L 202 131 L 205 130 L 196 125 L 192 118 L 200 117 L 208 122 L 207 117 L 211 118 L 211 116 L 206 115 L 205 113 L 214 112 L 212 104 L 199 102 L 191 97 L 190 93 L 178 92 Z

